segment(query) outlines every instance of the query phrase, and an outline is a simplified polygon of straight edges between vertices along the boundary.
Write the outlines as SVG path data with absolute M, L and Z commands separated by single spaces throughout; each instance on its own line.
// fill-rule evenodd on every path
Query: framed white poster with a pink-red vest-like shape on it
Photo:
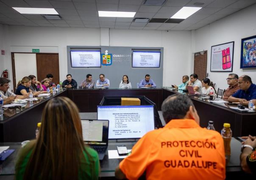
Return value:
M 211 72 L 232 72 L 234 41 L 211 46 Z

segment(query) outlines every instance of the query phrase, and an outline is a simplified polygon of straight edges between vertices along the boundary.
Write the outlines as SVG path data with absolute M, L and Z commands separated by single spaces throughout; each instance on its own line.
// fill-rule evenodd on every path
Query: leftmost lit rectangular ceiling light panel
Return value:
M 13 7 L 14 8 L 14 7 Z M 54 8 L 14 8 L 20 14 L 58 14 Z

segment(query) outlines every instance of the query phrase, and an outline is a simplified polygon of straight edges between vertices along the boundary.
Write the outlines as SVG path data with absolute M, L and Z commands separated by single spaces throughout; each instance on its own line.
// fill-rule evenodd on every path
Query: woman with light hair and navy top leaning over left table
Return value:
M 33 93 L 33 95 L 39 95 L 40 92 L 33 92 L 29 87 L 31 86 L 31 78 L 28 76 L 25 76 L 22 78 L 21 81 L 17 84 L 17 89 L 15 91 L 16 95 L 24 95 L 25 97 L 28 97 L 29 93 Z

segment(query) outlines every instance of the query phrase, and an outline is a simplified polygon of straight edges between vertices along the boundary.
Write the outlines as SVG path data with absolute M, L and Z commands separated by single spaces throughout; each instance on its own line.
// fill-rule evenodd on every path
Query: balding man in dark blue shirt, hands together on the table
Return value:
M 235 104 L 242 104 L 248 106 L 249 101 L 253 100 L 256 104 L 256 85 L 253 84 L 250 76 L 243 75 L 238 78 L 238 87 L 240 88 L 232 96 L 228 97 L 228 101 L 235 102 Z

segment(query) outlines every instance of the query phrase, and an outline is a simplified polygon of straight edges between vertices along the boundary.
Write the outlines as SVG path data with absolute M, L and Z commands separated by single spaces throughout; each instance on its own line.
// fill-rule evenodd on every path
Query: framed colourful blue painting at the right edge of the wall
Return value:
M 256 35 L 242 39 L 240 68 L 256 68 Z

